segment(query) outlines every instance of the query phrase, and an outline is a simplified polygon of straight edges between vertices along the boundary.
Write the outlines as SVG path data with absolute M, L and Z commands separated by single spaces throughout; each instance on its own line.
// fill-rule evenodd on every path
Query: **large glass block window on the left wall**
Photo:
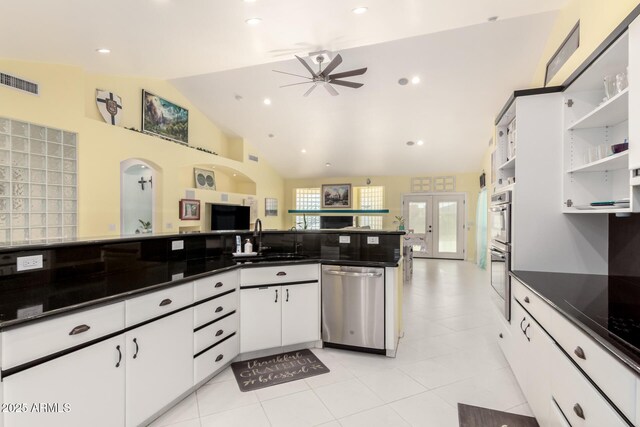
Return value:
M 77 135 L 0 117 L 0 245 L 77 236 Z

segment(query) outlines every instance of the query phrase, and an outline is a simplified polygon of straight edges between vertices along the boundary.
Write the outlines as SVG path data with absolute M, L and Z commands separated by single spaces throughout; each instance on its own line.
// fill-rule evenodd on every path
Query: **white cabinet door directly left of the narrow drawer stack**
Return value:
M 193 385 L 193 308 L 127 332 L 126 343 L 126 425 L 138 426 Z

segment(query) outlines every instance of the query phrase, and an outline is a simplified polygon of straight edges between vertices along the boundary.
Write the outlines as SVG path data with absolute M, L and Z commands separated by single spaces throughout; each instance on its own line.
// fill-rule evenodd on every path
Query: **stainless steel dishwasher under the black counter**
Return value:
M 322 266 L 322 341 L 385 353 L 383 268 Z

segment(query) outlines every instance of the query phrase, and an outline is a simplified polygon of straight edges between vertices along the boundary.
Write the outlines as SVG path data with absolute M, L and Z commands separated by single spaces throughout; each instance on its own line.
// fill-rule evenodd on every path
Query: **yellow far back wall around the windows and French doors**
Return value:
M 446 176 L 449 174 L 438 173 L 427 176 Z M 456 191 L 467 194 L 467 259 L 475 259 L 476 251 L 476 204 L 478 201 L 478 191 L 480 191 L 478 173 L 458 174 L 456 177 Z M 372 177 L 337 177 L 337 178 L 309 178 L 309 179 L 287 179 L 285 180 L 285 210 L 295 209 L 295 189 L 296 188 L 319 188 L 322 184 L 351 184 L 354 187 L 366 186 L 367 178 L 371 179 L 372 186 L 384 187 L 384 208 L 389 209 L 389 213 L 382 215 L 383 228 L 394 230 L 396 228 L 395 216 L 402 215 L 402 195 L 411 192 L 410 176 L 372 176 Z M 288 215 L 285 219 L 287 227 L 295 224 L 295 215 Z

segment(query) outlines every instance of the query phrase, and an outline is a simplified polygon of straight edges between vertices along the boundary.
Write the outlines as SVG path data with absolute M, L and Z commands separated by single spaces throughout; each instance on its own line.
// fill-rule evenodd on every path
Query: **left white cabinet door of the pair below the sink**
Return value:
M 240 353 L 280 347 L 281 286 L 240 291 Z

